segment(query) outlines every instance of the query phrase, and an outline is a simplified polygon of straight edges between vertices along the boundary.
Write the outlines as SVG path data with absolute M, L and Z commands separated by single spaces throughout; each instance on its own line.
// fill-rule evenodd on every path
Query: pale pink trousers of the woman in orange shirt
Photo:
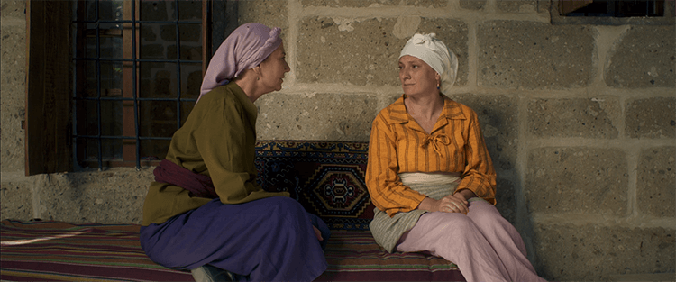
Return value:
M 495 206 L 475 201 L 469 209 L 467 215 L 423 214 L 399 239 L 397 250 L 448 259 L 469 282 L 544 281 L 526 259 L 521 235 Z

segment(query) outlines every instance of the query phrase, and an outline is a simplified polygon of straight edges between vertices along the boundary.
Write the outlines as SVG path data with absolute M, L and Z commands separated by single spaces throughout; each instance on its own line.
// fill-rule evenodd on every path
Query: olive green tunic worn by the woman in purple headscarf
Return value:
M 266 192 L 256 183 L 254 165 L 258 110 L 235 83 L 216 87 L 199 99 L 171 138 L 167 159 L 211 177 L 224 204 L 241 204 L 288 192 Z M 188 196 L 179 186 L 152 182 L 143 204 L 143 226 L 164 223 L 211 201 Z

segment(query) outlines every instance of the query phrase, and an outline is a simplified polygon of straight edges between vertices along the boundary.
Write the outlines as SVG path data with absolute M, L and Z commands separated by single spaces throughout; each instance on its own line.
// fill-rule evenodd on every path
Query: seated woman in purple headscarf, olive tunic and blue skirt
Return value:
M 279 32 L 246 23 L 228 36 L 155 168 L 141 246 L 160 265 L 191 269 L 196 280 L 311 281 L 326 269 L 326 224 L 255 181 L 253 102 L 280 90 L 290 71 Z

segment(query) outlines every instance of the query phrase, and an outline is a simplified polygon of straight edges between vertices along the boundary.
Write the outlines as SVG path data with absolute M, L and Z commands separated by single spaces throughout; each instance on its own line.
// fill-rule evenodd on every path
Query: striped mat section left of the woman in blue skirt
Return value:
M 2 221 L 3 281 L 195 281 L 145 255 L 139 225 Z

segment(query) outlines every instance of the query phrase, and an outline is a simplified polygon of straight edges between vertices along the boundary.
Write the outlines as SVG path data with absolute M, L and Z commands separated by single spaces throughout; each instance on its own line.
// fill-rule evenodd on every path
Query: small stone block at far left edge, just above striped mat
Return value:
M 28 181 L 3 181 L 0 184 L 0 216 L 2 219 L 32 219 L 32 183 Z

